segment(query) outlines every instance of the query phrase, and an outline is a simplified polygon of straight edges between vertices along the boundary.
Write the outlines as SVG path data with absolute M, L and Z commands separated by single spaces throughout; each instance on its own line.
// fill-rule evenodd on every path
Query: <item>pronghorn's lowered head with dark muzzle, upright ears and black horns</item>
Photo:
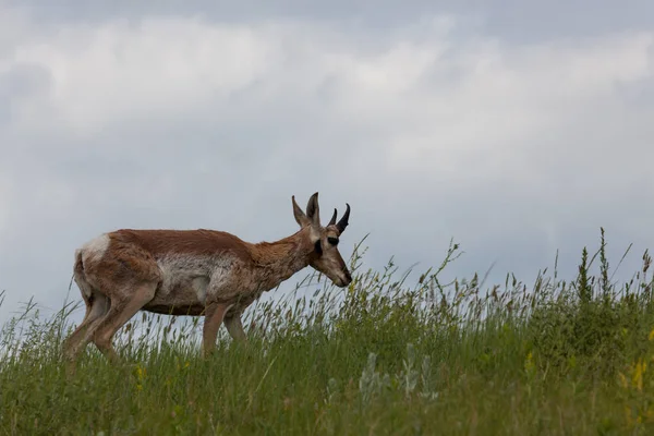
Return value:
M 317 192 L 308 199 L 306 214 L 295 203 L 294 195 L 292 199 L 295 221 L 298 221 L 302 229 L 307 229 L 306 234 L 313 245 L 308 265 L 329 277 L 336 286 L 340 288 L 347 287 L 352 281 L 352 276 L 350 276 L 348 266 L 338 251 L 338 242 L 339 237 L 346 230 L 346 227 L 348 227 L 350 205 L 346 203 L 346 213 L 338 222 L 336 222 L 337 210 L 334 209 L 331 220 L 327 227 L 323 227 L 320 225 Z

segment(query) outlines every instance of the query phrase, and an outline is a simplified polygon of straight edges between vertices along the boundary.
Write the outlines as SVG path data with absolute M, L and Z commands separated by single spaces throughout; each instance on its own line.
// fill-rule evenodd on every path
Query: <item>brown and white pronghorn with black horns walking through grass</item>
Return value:
M 245 340 L 243 311 L 263 292 L 306 266 L 325 274 L 336 286 L 352 277 L 338 251 L 348 227 L 350 205 L 337 222 L 337 210 L 323 227 L 318 193 L 306 213 L 291 196 L 300 225 L 294 234 L 256 244 L 214 230 L 131 230 L 102 233 L 75 251 L 74 279 L 86 314 L 64 342 L 74 361 L 93 341 L 111 362 L 118 354 L 111 339 L 138 311 L 169 315 L 204 315 L 203 352 L 216 347 L 218 328 L 233 340 Z

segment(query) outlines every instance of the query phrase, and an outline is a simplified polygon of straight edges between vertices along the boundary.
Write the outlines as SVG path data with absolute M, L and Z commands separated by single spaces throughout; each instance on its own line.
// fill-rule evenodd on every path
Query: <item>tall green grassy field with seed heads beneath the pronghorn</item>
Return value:
M 202 324 L 140 314 L 117 338 L 124 365 L 89 346 L 74 378 L 71 306 L 27 308 L 0 335 L 0 433 L 654 434 L 652 261 L 611 283 L 604 246 L 571 282 L 441 283 L 457 245 L 415 286 L 392 264 L 359 268 L 349 289 L 258 304 L 249 343 L 222 329 L 209 359 Z

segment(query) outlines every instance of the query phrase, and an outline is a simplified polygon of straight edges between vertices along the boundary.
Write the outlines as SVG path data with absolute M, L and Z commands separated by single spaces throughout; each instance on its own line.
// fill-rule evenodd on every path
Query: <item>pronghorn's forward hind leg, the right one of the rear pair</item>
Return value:
M 111 362 L 119 362 L 119 356 L 111 346 L 113 335 L 155 296 L 157 286 L 157 282 L 142 283 L 133 289 L 125 289 L 111 299 L 109 312 L 93 331 L 93 342 Z

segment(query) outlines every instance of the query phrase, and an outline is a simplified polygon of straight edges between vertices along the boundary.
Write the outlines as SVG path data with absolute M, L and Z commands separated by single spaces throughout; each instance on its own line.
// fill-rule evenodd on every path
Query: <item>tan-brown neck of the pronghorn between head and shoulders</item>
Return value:
M 262 284 L 275 288 L 308 265 L 313 253 L 308 232 L 304 228 L 279 241 L 253 244 L 252 258 Z

